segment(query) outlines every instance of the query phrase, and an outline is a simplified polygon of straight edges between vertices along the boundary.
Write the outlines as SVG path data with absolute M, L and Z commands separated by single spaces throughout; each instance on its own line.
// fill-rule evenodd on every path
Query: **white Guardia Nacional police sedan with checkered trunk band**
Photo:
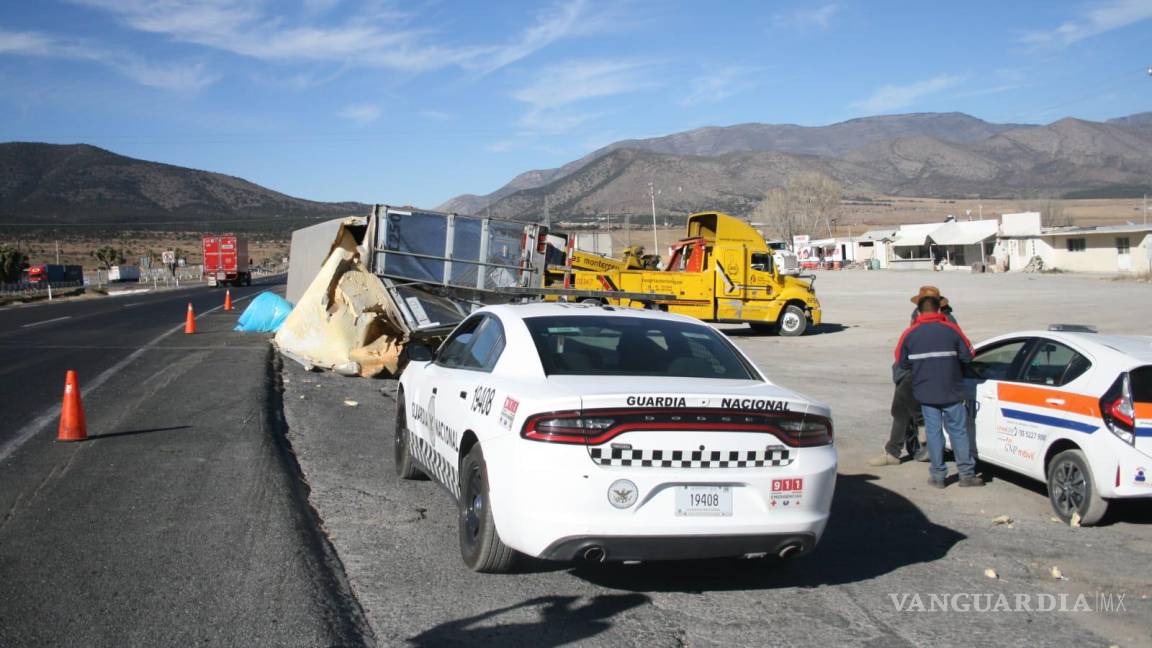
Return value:
M 799 555 L 827 523 L 828 408 L 696 319 L 494 306 L 408 354 L 396 470 L 456 498 L 472 570 Z

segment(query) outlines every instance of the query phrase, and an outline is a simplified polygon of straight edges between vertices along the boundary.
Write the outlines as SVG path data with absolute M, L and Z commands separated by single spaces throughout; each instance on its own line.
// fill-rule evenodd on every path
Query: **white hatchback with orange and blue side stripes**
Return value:
M 1092 525 L 1111 499 L 1152 498 L 1152 337 L 1052 329 L 977 346 L 977 454 L 1046 482 L 1061 519 Z

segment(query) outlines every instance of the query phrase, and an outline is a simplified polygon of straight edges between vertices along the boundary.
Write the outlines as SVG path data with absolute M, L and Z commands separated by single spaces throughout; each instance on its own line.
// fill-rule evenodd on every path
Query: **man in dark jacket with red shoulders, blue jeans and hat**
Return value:
M 937 488 L 946 485 L 943 429 L 947 429 L 960 485 L 982 487 L 984 480 L 976 475 L 964 406 L 963 366 L 972 361 L 972 345 L 960 326 L 940 312 L 939 296 L 922 297 L 917 306 L 920 315 L 901 336 L 896 363 L 900 369 L 911 372 L 912 395 L 924 414 L 924 432 L 932 461 L 929 483 Z

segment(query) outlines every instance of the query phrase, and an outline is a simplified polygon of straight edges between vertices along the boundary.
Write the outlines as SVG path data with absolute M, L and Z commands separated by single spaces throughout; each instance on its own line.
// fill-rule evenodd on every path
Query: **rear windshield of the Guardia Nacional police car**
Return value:
M 550 376 L 759 379 L 732 342 L 707 326 L 600 316 L 529 317 L 524 323 Z

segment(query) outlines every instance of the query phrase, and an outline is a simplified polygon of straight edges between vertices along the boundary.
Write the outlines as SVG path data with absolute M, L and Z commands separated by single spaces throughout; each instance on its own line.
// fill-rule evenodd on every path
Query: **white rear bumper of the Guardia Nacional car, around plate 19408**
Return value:
M 801 449 L 788 466 L 677 469 L 598 466 L 583 446 L 509 437 L 490 440 L 485 450 L 492 511 L 505 544 L 537 558 L 571 556 L 597 541 L 621 545 L 605 549 L 609 559 L 621 560 L 661 559 L 659 552 L 670 552 L 664 559 L 770 552 L 776 538 L 795 537 L 806 538 L 801 542 L 806 550 L 824 533 L 832 508 L 836 451 L 831 445 Z M 609 500 L 619 480 L 637 489 L 636 503 L 624 508 Z M 782 481 L 798 490 L 778 491 Z M 677 514 L 675 491 L 692 484 L 729 487 L 730 514 Z M 658 553 L 614 555 L 632 545 Z

